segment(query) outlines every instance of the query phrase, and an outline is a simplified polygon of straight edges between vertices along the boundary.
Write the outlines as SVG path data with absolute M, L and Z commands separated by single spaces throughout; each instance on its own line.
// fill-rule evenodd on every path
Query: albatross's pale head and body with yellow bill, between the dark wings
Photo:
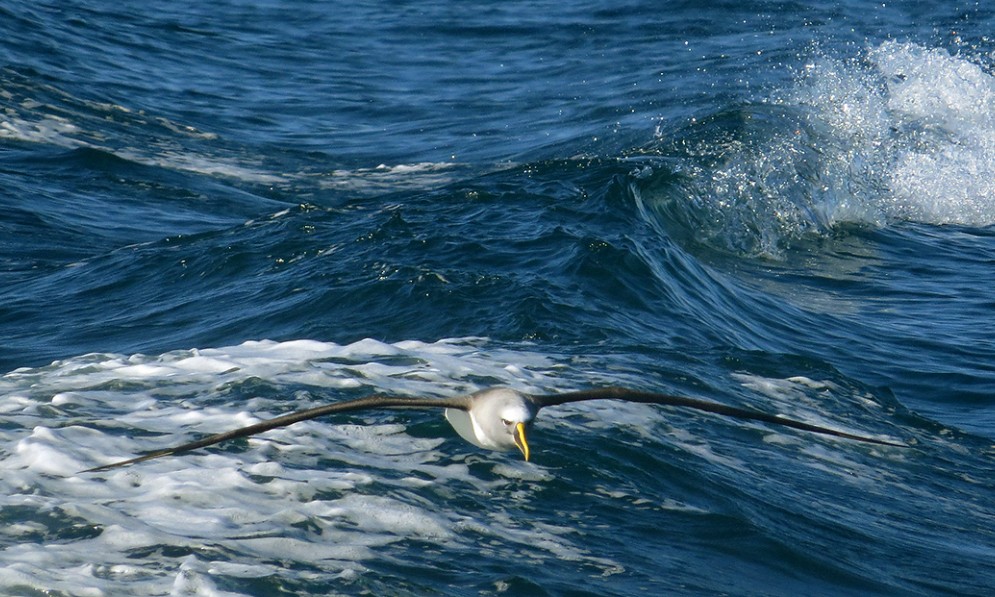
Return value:
M 470 396 L 468 410 L 446 409 L 446 419 L 466 441 L 489 450 L 518 448 L 529 459 L 527 434 L 537 412 L 521 392 L 494 388 Z

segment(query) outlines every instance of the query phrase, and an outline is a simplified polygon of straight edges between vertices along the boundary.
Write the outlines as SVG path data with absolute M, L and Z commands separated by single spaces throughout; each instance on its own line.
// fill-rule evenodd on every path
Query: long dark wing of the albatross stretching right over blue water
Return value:
M 883 446 L 898 446 L 903 448 L 908 447 L 907 444 L 903 443 L 897 443 L 882 439 L 875 439 L 873 437 L 864 437 L 862 435 L 854 435 L 852 433 L 846 433 L 845 431 L 837 431 L 835 429 L 829 429 L 827 427 L 820 427 L 818 425 L 812 425 L 810 423 L 803 423 L 801 421 L 795 421 L 793 419 L 786 419 L 784 417 L 772 415 L 759 410 L 738 408 L 735 406 L 728 406 L 726 404 L 721 404 L 718 402 L 700 400 L 698 398 L 687 398 L 685 396 L 674 396 L 671 394 L 658 394 L 655 392 L 641 392 L 639 390 L 629 390 L 626 388 L 597 388 L 591 390 L 582 390 L 579 392 L 566 392 L 563 394 L 549 394 L 545 396 L 529 396 L 529 397 L 532 399 L 532 402 L 536 405 L 537 408 L 543 408 L 546 406 L 556 406 L 558 404 L 565 404 L 567 402 L 582 402 L 585 400 L 624 400 L 626 402 L 643 402 L 646 404 L 665 404 L 668 406 L 683 406 L 719 415 L 725 415 L 727 417 L 734 417 L 737 419 L 746 419 L 751 421 L 762 421 L 764 423 L 771 423 L 773 425 L 781 425 L 784 427 L 801 429 L 803 431 L 810 431 L 812 433 L 821 433 L 823 435 L 833 435 L 836 437 L 843 437 L 846 439 L 852 439 L 861 442 L 868 442 Z

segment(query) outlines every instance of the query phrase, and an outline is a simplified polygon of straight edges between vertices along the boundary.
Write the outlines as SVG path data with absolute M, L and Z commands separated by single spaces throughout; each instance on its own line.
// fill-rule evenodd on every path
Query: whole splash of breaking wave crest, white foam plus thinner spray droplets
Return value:
M 644 169 L 637 204 L 695 242 L 775 258 L 841 224 L 995 224 L 990 60 L 894 41 L 819 54 L 763 102 L 693 125 L 685 182 L 657 192 Z

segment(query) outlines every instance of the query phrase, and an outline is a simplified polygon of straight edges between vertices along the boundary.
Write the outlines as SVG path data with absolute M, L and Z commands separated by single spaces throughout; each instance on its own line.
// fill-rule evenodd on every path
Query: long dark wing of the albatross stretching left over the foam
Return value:
M 384 396 L 382 394 L 374 394 L 371 396 L 365 396 L 363 398 L 356 398 L 355 400 L 346 400 L 344 402 L 336 402 L 333 404 L 326 404 L 325 406 L 318 406 L 306 410 L 299 410 L 280 417 L 276 417 L 274 419 L 269 419 L 266 421 L 256 423 L 255 425 L 249 425 L 248 427 L 241 427 L 239 429 L 232 429 L 231 431 L 225 431 L 224 433 L 209 435 L 197 441 L 189 442 L 179 446 L 173 446 L 172 448 L 155 450 L 154 452 L 148 452 L 147 454 L 143 454 L 142 456 L 138 456 L 130 460 L 122 460 L 121 462 L 114 462 L 111 464 L 105 464 L 103 466 L 96 466 L 80 472 L 95 473 L 98 471 L 106 471 L 112 468 L 118 468 L 120 466 L 127 466 L 129 464 L 135 464 L 137 462 L 152 460 L 153 458 L 170 456 L 172 454 L 179 454 L 181 452 L 189 452 L 190 450 L 196 450 L 198 448 L 212 446 L 214 444 L 228 441 L 230 439 L 237 439 L 240 437 L 255 435 L 257 433 L 269 431 L 270 429 L 276 429 L 277 427 L 286 427 L 287 425 L 293 425 L 294 423 L 298 423 L 300 421 L 306 421 L 308 419 L 316 419 L 318 417 L 323 417 L 325 415 L 330 415 L 333 413 L 366 410 L 372 408 L 459 408 L 462 410 L 467 410 L 469 406 L 470 406 L 470 400 L 468 396 L 456 396 L 453 398 L 436 399 L 436 398 L 406 398 L 401 396 Z

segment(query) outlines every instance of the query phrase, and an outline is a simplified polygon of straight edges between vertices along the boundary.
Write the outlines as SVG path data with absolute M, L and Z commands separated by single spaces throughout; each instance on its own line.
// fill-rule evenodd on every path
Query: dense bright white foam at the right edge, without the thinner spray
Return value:
M 821 57 L 806 71 L 786 103 L 813 107 L 829 125 L 820 149 L 855 185 L 836 220 L 995 223 L 990 65 L 888 41 L 862 60 Z

